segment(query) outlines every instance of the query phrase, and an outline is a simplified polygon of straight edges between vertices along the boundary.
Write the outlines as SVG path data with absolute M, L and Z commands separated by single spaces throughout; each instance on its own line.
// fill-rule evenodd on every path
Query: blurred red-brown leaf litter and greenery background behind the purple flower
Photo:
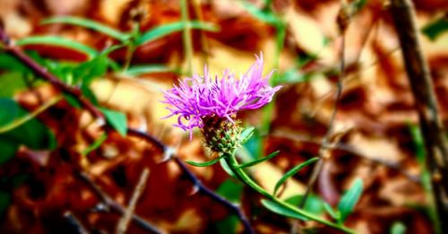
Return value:
M 122 215 L 101 194 L 126 207 L 149 169 L 134 210 L 143 220 L 165 233 L 242 233 L 237 216 L 196 191 L 178 161 L 154 143 L 120 133 L 127 126 L 151 134 L 181 161 L 210 160 L 199 131 L 190 141 L 189 133 L 172 126 L 177 117 L 162 118 L 168 115 L 159 101 L 162 91 L 203 74 L 204 65 L 219 77 L 226 69 L 244 74 L 263 53 L 264 74 L 274 71 L 270 82 L 282 88 L 269 106 L 240 113 L 244 125 L 257 131 L 238 156 L 280 154 L 251 168 L 253 178 L 273 191 L 285 172 L 319 153 L 334 122 L 332 149 L 306 210 L 329 217 L 323 201 L 334 207 L 362 178 L 364 191 L 347 226 L 357 233 L 435 233 L 424 139 L 389 3 L 352 2 L 358 8 L 343 44 L 335 0 L 0 0 L 2 27 L 13 47 L 80 87 L 117 130 L 102 128 L 78 100 L 39 79 L 3 44 L 0 232 L 115 232 Z M 413 3 L 447 126 L 448 2 Z M 346 73 L 332 119 L 341 49 Z M 261 195 L 230 178 L 219 163 L 187 169 L 240 204 L 256 233 L 295 231 L 294 221 L 263 208 Z M 298 205 L 313 169 L 289 178 L 280 198 Z M 335 232 L 314 222 L 302 226 Z M 126 233 L 151 231 L 130 221 Z

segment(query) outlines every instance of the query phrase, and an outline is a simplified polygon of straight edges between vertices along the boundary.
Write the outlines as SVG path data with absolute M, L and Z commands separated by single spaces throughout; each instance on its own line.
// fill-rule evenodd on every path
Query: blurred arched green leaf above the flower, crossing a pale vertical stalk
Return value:
M 191 29 L 194 30 L 208 30 L 208 31 L 220 30 L 215 24 L 210 22 L 197 22 L 197 21 L 172 22 L 146 31 L 145 33 L 143 33 L 142 37 L 137 39 L 136 44 L 137 45 L 145 44 L 151 40 L 167 36 L 168 34 L 171 34 L 175 31 L 184 30 L 185 27 L 190 27 Z

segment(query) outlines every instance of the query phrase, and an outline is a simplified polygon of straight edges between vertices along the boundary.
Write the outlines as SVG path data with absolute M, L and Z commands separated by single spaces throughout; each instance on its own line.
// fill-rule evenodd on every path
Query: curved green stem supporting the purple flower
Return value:
M 340 230 L 343 231 L 345 233 L 350 233 L 353 234 L 355 233 L 353 230 L 350 230 L 349 228 L 346 228 L 340 224 L 337 223 L 333 223 L 331 221 L 326 221 L 323 220 L 321 217 L 318 217 L 316 215 L 314 215 L 313 213 L 309 213 L 309 212 L 305 212 L 303 210 L 298 209 L 297 207 L 295 207 L 294 205 L 288 204 L 286 202 L 281 201 L 280 199 L 278 199 L 277 197 L 275 197 L 274 195 L 271 195 L 268 191 L 266 191 L 263 187 L 259 186 L 252 178 L 250 178 L 246 172 L 241 169 L 238 164 L 238 161 L 235 157 L 235 153 L 227 153 L 224 155 L 224 158 L 228 164 L 228 167 L 232 170 L 232 172 L 237 176 L 237 178 L 239 178 L 241 180 L 241 182 L 243 182 L 244 184 L 246 184 L 246 186 L 250 186 L 251 188 L 253 188 L 257 193 L 265 196 L 266 198 L 270 199 L 272 202 L 275 202 L 276 204 L 280 204 L 281 206 L 283 206 L 286 209 L 289 209 L 292 212 L 297 212 L 298 214 L 313 220 L 313 221 L 317 221 L 320 222 L 328 227 L 332 227 L 336 230 Z

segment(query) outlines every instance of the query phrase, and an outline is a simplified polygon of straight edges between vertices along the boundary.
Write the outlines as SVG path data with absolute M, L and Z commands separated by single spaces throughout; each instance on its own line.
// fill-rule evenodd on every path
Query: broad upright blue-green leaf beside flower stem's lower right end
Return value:
M 347 219 L 349 214 L 353 212 L 355 205 L 358 203 L 363 191 L 363 181 L 361 178 L 357 178 L 353 185 L 349 188 L 342 197 L 338 204 L 338 210 L 340 212 L 340 222 Z

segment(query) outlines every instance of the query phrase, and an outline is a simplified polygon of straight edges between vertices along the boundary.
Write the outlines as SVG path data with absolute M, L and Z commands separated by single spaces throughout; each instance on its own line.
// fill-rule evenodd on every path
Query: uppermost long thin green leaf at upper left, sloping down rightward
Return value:
M 114 38 L 114 39 L 118 39 L 121 41 L 125 41 L 130 38 L 130 36 L 124 32 L 112 29 L 102 23 L 94 22 L 89 19 L 84 19 L 84 18 L 79 18 L 79 17 L 73 17 L 73 16 L 55 17 L 55 18 L 46 19 L 40 23 L 42 23 L 42 24 L 46 24 L 46 23 L 72 24 L 72 25 L 88 28 L 90 30 L 97 30 L 99 32 L 102 32 L 102 33 Z

